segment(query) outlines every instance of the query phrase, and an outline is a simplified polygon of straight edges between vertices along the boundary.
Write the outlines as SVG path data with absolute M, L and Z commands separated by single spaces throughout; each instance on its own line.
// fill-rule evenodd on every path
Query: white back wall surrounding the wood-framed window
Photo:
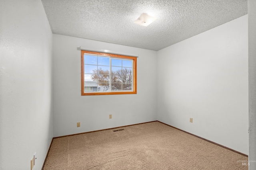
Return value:
M 80 46 L 138 54 L 137 94 L 81 96 Z M 54 34 L 53 56 L 54 137 L 156 120 L 156 51 Z

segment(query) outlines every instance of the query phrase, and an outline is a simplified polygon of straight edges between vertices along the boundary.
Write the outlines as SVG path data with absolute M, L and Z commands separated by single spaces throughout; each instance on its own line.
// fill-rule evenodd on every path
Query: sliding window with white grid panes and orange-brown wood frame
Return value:
M 137 58 L 81 50 L 81 94 L 136 94 Z

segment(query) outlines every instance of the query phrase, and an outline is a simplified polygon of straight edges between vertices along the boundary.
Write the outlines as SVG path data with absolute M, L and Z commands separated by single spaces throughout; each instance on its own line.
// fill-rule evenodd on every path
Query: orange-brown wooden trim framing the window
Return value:
M 132 59 L 133 60 L 133 91 L 129 92 L 84 92 L 84 53 L 93 55 L 104 55 L 107 57 L 116 57 L 121 59 Z M 113 95 L 113 94 L 137 94 L 137 57 L 131 57 L 126 55 L 117 55 L 111 53 L 100 53 L 94 51 L 81 50 L 81 96 L 92 96 L 92 95 Z

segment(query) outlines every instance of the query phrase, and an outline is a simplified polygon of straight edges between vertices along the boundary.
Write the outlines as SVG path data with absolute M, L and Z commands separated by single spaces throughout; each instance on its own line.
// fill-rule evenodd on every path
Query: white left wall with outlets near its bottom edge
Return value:
M 40 0 L 0 2 L 1 170 L 42 168 L 52 140 L 52 32 Z

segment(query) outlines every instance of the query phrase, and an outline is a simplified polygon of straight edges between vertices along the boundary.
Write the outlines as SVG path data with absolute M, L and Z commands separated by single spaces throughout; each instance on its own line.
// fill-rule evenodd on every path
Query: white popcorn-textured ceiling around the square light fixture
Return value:
M 52 33 L 158 51 L 247 14 L 247 0 L 42 0 Z M 157 20 L 133 23 L 140 14 Z

